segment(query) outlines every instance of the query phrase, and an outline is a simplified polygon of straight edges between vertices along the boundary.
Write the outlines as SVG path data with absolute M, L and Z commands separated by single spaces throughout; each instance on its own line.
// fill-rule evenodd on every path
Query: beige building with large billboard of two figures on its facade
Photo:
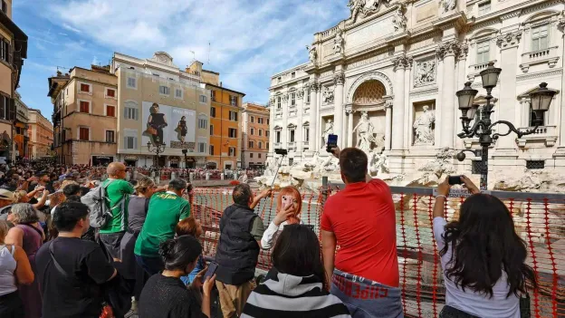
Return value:
M 165 52 L 149 59 L 114 53 L 110 72 L 118 81 L 116 161 L 133 167 L 206 165 L 210 91 L 201 83 L 201 63 L 182 71 Z M 159 145 L 156 159 L 150 150 Z

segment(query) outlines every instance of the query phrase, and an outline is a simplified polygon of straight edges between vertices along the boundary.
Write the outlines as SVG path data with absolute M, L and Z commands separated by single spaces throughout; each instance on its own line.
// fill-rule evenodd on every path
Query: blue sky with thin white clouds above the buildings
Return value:
M 171 54 L 220 72 L 244 101 L 268 101 L 270 77 L 308 60 L 313 34 L 349 15 L 347 0 L 14 0 L 29 36 L 18 92 L 51 120 L 47 78 L 57 67 L 108 64 L 112 53 Z M 210 49 L 208 50 L 208 43 Z M 193 53 L 194 52 L 194 53 Z M 208 63 L 209 52 L 209 63 Z

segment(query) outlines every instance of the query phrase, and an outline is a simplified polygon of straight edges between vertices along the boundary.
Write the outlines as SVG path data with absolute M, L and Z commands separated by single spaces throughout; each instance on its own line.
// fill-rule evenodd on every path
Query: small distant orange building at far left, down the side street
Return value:
M 53 147 L 53 124 L 47 120 L 41 111 L 29 109 L 28 135 L 31 146 L 31 159 L 50 157 Z

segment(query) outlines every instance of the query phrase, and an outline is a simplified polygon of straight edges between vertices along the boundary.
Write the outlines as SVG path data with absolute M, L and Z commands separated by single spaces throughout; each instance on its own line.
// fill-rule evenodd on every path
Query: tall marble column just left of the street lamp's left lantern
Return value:
M 441 130 L 441 148 L 454 148 L 455 140 L 455 55 L 459 54 L 459 43 L 457 41 L 448 41 L 440 44 L 437 48 L 437 55 L 443 59 L 443 77 L 444 87 L 442 96 L 442 123 Z

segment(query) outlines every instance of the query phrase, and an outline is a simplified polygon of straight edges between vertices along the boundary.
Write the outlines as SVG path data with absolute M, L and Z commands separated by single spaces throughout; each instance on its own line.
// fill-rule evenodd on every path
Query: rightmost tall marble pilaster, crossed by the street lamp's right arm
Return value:
M 504 65 L 503 72 L 499 77 L 500 100 L 496 104 L 498 110 L 498 120 L 508 120 L 516 124 L 516 70 L 518 69 L 518 45 L 522 39 L 522 31 L 512 31 L 499 35 L 497 43 L 501 48 L 501 63 Z M 507 128 L 500 126 L 497 131 L 504 132 Z M 516 135 L 511 133 L 508 136 L 499 138 L 496 142 L 496 149 L 515 151 Z

